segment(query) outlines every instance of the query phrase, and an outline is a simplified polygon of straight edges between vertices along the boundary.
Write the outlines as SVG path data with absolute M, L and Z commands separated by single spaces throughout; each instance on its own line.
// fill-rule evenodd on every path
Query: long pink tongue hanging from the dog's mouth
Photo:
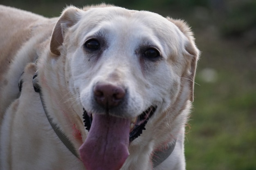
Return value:
M 94 115 L 88 137 L 79 148 L 86 170 L 119 170 L 129 152 L 130 120 Z

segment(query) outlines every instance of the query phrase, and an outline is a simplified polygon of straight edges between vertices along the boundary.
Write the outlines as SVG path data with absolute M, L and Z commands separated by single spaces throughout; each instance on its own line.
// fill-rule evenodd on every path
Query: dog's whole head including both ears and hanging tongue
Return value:
M 102 6 L 67 8 L 50 44 L 67 57 L 70 91 L 92 120 L 80 148 L 88 170 L 121 168 L 150 117 L 176 116 L 193 100 L 199 55 L 183 21 Z

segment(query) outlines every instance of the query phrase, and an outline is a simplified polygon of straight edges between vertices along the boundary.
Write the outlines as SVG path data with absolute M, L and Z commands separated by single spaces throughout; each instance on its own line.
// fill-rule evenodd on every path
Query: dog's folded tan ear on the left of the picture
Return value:
M 55 24 L 52 32 L 52 39 L 50 43 L 51 52 L 55 55 L 60 55 L 59 46 L 62 45 L 65 32 L 68 28 L 79 21 L 80 9 L 76 7 L 67 7 L 63 12 L 58 22 Z

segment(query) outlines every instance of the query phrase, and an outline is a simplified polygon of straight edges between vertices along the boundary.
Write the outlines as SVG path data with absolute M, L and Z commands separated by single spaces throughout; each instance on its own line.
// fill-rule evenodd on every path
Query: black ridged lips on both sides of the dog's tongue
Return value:
M 148 114 L 148 117 L 143 121 L 140 125 L 135 125 L 132 132 L 130 132 L 130 142 L 139 137 L 142 134 L 143 130 L 146 130 L 145 126 L 148 123 L 149 118 L 155 113 L 157 106 L 150 106 L 147 110 L 145 110 L 141 115 L 138 116 L 138 120 L 143 120 L 145 115 Z M 92 115 L 88 115 L 87 111 L 83 108 L 83 119 L 85 129 L 90 131 L 92 126 Z

